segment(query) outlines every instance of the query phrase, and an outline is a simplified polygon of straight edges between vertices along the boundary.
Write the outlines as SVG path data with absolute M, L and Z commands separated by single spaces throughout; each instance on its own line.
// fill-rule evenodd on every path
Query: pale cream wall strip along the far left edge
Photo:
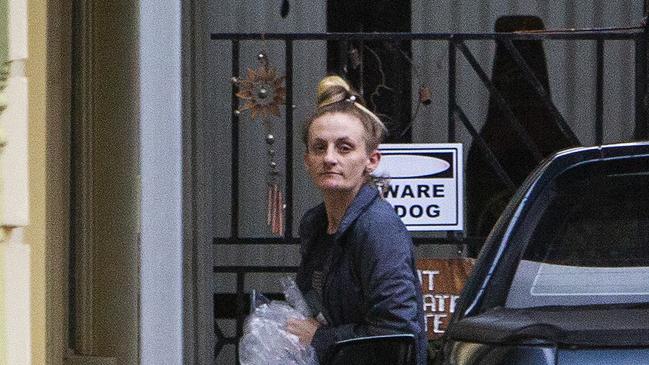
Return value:
M 27 14 L 23 0 L 2 1 L 0 55 L 0 364 L 30 363 L 30 247 L 23 242 L 27 207 Z M 4 62 L 8 61 L 6 64 Z M 5 65 L 7 69 L 5 70 Z M 5 88 L 6 86 L 6 88 Z

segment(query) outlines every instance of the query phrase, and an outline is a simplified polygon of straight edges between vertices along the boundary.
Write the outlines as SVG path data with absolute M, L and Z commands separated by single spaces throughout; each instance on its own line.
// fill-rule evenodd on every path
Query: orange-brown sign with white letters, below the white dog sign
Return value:
M 429 340 L 444 334 L 473 264 L 473 259 L 464 258 L 417 260 Z

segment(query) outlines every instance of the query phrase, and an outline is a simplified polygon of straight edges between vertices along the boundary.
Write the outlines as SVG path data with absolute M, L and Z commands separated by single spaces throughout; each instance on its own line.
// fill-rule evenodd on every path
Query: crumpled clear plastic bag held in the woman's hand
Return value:
M 318 365 L 313 347 L 285 329 L 289 318 L 310 316 L 309 307 L 293 279 L 283 278 L 281 284 L 287 302 L 260 301 L 246 319 L 239 342 L 241 365 Z

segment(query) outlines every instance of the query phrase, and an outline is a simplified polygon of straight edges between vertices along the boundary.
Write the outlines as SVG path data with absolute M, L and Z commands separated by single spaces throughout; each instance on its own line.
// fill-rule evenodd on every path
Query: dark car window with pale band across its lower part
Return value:
M 639 161 L 578 167 L 548 188 L 507 307 L 649 302 L 649 164 Z

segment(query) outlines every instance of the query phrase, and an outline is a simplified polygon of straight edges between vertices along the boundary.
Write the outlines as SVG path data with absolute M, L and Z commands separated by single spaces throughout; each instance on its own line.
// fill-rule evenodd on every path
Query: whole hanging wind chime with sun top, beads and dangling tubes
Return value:
M 259 67 L 248 68 L 245 78 L 233 77 L 232 82 L 238 87 L 235 95 L 243 106 L 235 110 L 236 114 L 249 110 L 253 120 L 259 119 L 266 131 L 266 154 L 268 158 L 268 174 L 266 179 L 266 224 L 271 232 L 284 235 L 284 194 L 281 189 L 282 177 L 276 160 L 274 128 L 272 117 L 280 116 L 280 105 L 286 100 L 286 77 L 277 75 L 277 70 L 270 66 L 266 52 L 257 55 Z

